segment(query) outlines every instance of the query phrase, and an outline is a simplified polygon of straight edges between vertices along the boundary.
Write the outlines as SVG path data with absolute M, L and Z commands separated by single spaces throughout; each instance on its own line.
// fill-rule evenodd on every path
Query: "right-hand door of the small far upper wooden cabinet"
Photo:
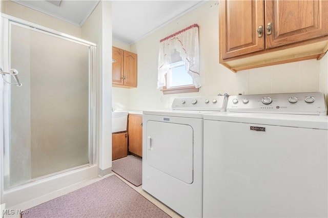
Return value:
M 137 87 L 137 54 L 124 51 L 125 85 Z

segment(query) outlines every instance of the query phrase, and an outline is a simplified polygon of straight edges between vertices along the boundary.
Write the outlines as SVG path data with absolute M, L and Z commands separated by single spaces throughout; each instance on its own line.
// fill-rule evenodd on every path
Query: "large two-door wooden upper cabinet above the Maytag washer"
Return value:
M 220 63 L 233 71 L 320 59 L 328 1 L 220 1 Z

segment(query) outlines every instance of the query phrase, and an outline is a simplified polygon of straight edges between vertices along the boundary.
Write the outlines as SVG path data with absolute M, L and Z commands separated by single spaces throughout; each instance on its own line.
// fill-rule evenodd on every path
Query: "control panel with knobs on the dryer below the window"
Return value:
M 228 98 L 224 95 L 211 97 L 175 98 L 172 103 L 173 110 L 192 111 L 226 111 Z

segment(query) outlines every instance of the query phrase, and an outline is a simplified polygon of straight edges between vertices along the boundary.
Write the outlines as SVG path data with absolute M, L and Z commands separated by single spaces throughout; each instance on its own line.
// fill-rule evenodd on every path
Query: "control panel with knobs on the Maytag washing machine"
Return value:
M 323 93 L 281 93 L 230 96 L 228 112 L 326 115 Z

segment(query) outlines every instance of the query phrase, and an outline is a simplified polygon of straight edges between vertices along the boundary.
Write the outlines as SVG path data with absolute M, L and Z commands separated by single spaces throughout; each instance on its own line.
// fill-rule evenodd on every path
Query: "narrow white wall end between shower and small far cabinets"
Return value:
M 86 40 L 97 44 L 97 80 L 98 90 L 98 164 L 100 176 L 111 172 L 112 167 L 112 3 L 100 1 L 95 10 L 81 28 Z

